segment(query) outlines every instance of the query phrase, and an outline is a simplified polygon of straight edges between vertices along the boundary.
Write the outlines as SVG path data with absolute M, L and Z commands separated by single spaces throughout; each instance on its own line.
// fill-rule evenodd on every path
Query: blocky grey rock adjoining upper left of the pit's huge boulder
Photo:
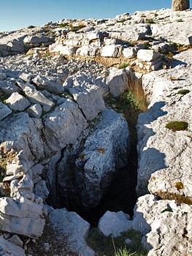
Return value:
M 73 144 L 87 126 L 77 104 L 66 99 L 53 112 L 44 116 L 43 132 L 47 146 L 53 152 L 60 151 L 68 144 Z

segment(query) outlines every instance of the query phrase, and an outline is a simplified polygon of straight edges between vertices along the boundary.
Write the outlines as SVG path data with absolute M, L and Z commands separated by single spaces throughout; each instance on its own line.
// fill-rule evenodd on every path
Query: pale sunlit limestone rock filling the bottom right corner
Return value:
M 133 228 L 145 234 L 142 244 L 149 250 L 148 255 L 191 253 L 191 206 L 174 200 L 156 200 L 153 195 L 139 197 Z

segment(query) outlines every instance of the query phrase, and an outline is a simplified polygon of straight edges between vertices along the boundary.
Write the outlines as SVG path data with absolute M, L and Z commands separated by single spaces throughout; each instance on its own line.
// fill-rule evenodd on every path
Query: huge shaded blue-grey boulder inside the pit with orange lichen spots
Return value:
M 128 162 L 129 132 L 126 119 L 106 109 L 86 138 L 53 158 L 45 174 L 52 183 L 51 202 L 56 206 L 88 210 L 96 207 L 110 187 L 112 178 Z M 51 175 L 55 166 L 56 180 Z M 54 189 L 55 187 L 55 189 Z M 64 203 L 62 203 L 64 202 Z M 53 206 L 54 204 L 53 203 Z

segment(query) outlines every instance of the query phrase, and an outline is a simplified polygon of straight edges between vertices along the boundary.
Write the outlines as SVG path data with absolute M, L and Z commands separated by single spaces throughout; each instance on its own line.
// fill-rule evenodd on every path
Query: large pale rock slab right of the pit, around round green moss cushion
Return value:
M 191 50 L 180 53 L 172 69 L 143 76 L 150 101 L 139 116 L 138 195 L 150 192 L 164 199 L 191 202 Z M 188 89 L 188 94 L 178 93 Z M 188 129 L 167 129 L 169 121 L 186 121 Z M 179 166 L 179 168 L 178 168 Z M 177 184 L 182 184 L 177 187 Z

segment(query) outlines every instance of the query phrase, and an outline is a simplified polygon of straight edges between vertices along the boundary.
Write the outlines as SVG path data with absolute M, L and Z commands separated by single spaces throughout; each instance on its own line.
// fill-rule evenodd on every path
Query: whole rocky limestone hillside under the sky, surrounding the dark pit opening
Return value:
M 191 21 L 154 10 L 0 34 L 0 255 L 96 255 L 70 209 L 99 206 L 130 165 L 116 99 L 141 88 L 134 216 L 107 211 L 98 227 L 139 230 L 148 255 L 191 255 Z

